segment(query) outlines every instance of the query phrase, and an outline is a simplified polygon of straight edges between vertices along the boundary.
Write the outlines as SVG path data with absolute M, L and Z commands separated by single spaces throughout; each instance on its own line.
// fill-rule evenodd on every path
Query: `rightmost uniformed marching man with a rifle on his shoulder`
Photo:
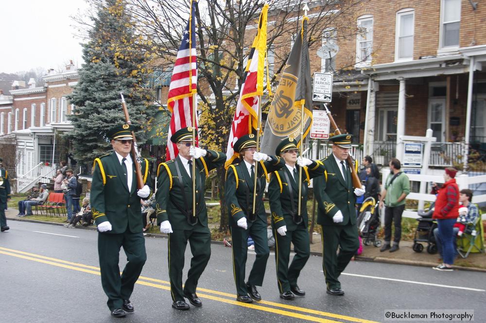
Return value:
M 338 280 L 341 272 L 359 248 L 356 228 L 356 196 L 364 194 L 364 186 L 353 189 L 351 170 L 346 162 L 351 148 L 349 134 L 332 136 L 332 153 L 322 160 L 324 176 L 314 179 L 317 200 L 317 223 L 322 228 L 322 267 L 326 292 L 344 295 Z M 337 250 L 339 248 L 339 255 Z

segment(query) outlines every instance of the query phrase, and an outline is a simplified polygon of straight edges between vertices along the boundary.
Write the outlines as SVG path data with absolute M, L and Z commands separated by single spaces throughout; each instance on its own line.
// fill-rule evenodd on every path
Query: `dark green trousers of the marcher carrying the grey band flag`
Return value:
M 297 286 L 300 271 L 311 255 L 309 232 L 304 223 L 300 223 L 295 230 L 287 231 L 285 236 L 280 236 L 277 229 L 274 229 L 274 237 L 277 285 L 280 293 L 284 293 Z M 289 267 L 291 242 L 294 244 L 295 256 Z

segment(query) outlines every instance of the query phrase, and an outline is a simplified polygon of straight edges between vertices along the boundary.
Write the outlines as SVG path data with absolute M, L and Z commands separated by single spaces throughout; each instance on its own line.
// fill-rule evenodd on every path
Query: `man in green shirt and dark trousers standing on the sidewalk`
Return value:
M 380 198 L 380 208 L 385 208 L 385 238 L 381 252 L 390 250 L 395 252 L 399 250 L 401 238 L 401 215 L 405 209 L 405 198 L 410 193 L 410 180 L 408 176 L 400 171 L 401 164 L 397 158 L 392 158 L 390 163 L 390 174 L 384 182 L 384 189 Z M 392 237 L 392 222 L 395 226 L 395 236 L 393 246 L 390 247 Z

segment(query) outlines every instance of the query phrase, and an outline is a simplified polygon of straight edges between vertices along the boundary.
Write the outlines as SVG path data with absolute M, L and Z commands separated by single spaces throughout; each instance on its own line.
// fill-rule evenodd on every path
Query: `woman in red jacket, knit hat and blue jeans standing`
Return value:
M 454 244 L 452 241 L 452 227 L 459 216 L 459 187 L 455 181 L 457 170 L 448 167 L 444 173 L 444 185 L 439 189 L 435 200 L 435 209 L 432 218 L 437 220 L 439 237 L 442 242 L 443 264 L 434 267 L 435 270 L 452 271 L 454 263 Z

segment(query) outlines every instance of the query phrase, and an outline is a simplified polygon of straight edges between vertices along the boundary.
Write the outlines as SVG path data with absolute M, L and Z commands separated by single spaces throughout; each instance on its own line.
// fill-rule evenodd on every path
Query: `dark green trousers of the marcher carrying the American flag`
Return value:
M 169 234 L 169 278 L 171 280 L 171 296 L 174 302 L 184 300 L 182 290 L 182 269 L 184 268 L 184 254 L 187 241 L 191 247 L 191 268 L 187 273 L 184 292 L 196 292 L 197 282 L 204 272 L 211 256 L 211 233 L 208 227 L 199 221 L 191 230 L 174 230 Z

